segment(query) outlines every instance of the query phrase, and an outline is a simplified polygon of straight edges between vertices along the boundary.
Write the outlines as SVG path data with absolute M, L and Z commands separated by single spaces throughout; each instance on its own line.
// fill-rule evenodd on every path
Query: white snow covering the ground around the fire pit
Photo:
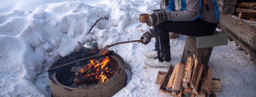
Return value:
M 141 13 L 159 8 L 159 0 L 6 0 L 0 4 L 0 96 L 50 97 L 47 70 L 57 61 L 79 48 L 94 36 L 99 48 L 117 42 L 137 40 L 150 27 L 140 23 Z M 221 31 L 221 29 L 216 29 Z M 180 62 L 184 35 L 170 39 L 171 61 Z M 148 45 L 119 44 L 110 47 L 125 61 L 127 84 L 115 97 L 171 96 L 160 92 L 155 84 L 158 71 L 168 68 L 147 67 L 144 51 L 153 50 L 155 39 Z M 214 47 L 209 64 L 213 77 L 221 79 L 222 90 L 213 91 L 217 97 L 256 95 L 256 65 L 249 54 L 233 41 Z

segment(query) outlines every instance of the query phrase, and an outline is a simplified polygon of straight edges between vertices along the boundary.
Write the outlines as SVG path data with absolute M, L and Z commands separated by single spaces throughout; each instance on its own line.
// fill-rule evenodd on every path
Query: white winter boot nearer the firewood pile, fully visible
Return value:
M 150 67 L 169 67 L 171 65 L 171 61 L 169 62 L 160 62 L 157 57 L 156 58 L 146 58 L 145 64 Z

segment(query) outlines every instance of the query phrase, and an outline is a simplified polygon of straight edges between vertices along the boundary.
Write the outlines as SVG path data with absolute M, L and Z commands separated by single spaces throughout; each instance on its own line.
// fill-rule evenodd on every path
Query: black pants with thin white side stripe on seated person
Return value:
M 214 32 L 217 24 L 202 19 L 194 21 L 164 21 L 154 27 L 155 48 L 160 62 L 171 60 L 169 32 L 188 36 L 207 36 Z

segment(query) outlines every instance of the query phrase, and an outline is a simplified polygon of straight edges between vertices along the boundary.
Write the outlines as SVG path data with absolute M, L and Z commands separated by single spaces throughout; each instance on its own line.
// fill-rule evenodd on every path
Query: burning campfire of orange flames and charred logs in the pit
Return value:
M 90 63 L 86 64 L 86 66 L 81 67 L 72 67 L 71 71 L 75 71 L 79 69 L 79 72 L 76 72 L 76 78 L 74 79 L 74 83 L 87 83 L 90 81 L 98 80 L 99 83 L 103 83 L 108 81 L 108 79 L 112 76 L 113 72 L 110 67 L 108 67 L 108 63 L 110 59 L 108 56 L 105 58 L 89 59 Z M 76 69 L 76 70 L 74 70 Z

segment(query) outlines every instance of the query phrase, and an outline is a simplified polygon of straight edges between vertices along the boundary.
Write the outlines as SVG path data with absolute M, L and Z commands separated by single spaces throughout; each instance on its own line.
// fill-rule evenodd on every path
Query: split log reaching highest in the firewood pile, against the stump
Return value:
M 194 58 L 194 69 L 193 69 L 193 73 L 191 76 L 190 88 L 194 88 L 195 82 L 196 82 L 196 77 L 197 77 L 197 71 L 201 67 L 201 60 L 197 59 L 197 57 L 195 57 L 195 54 L 193 55 L 193 58 Z

